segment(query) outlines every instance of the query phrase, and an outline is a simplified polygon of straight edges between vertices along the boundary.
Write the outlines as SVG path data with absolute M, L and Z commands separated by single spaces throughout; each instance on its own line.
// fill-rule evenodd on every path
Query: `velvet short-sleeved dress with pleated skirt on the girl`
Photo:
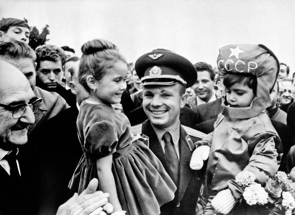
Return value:
M 86 100 L 77 128 L 83 156 L 69 184 L 73 191 L 80 194 L 98 178 L 96 160 L 113 154 L 112 172 L 126 214 L 160 214 L 160 206 L 173 200 L 176 186 L 153 152 L 139 140 L 132 142 L 125 114 Z

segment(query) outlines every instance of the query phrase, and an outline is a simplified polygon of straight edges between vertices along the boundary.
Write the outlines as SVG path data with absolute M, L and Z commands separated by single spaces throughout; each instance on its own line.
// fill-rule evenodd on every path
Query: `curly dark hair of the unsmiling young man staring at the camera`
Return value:
M 62 48 L 58 47 L 58 46 L 54 46 L 54 45 L 42 45 L 42 46 L 38 46 L 35 50 L 36 55 L 37 55 L 37 59 L 36 59 L 36 71 L 38 71 L 39 66 L 40 66 L 40 61 L 53 61 L 53 62 L 57 62 L 58 60 L 62 61 L 62 66 L 65 64 L 66 62 L 66 54 L 65 52 L 62 50 Z

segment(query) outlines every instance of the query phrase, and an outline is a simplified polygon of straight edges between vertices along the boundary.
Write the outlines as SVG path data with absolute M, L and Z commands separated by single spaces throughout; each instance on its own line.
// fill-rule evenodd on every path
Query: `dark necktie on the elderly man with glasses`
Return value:
M 10 152 L 10 154 L 5 155 L 3 160 L 7 160 L 10 167 L 10 179 L 15 183 L 15 185 L 19 188 L 23 186 L 21 176 L 19 175 L 19 169 L 16 163 L 16 150 Z

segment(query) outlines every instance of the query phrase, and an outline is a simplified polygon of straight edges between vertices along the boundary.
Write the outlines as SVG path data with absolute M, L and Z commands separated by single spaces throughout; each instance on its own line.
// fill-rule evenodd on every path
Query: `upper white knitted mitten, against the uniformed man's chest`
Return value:
M 194 170 L 199 170 L 203 167 L 205 160 L 209 157 L 209 146 L 199 146 L 193 152 L 190 159 L 190 168 Z

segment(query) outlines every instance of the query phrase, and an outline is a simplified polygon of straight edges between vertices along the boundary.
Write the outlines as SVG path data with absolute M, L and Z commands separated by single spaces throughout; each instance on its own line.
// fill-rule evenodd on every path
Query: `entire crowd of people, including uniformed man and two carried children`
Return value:
M 0 214 L 238 214 L 239 173 L 295 176 L 295 73 L 268 47 L 221 47 L 215 68 L 29 36 L 0 20 Z

